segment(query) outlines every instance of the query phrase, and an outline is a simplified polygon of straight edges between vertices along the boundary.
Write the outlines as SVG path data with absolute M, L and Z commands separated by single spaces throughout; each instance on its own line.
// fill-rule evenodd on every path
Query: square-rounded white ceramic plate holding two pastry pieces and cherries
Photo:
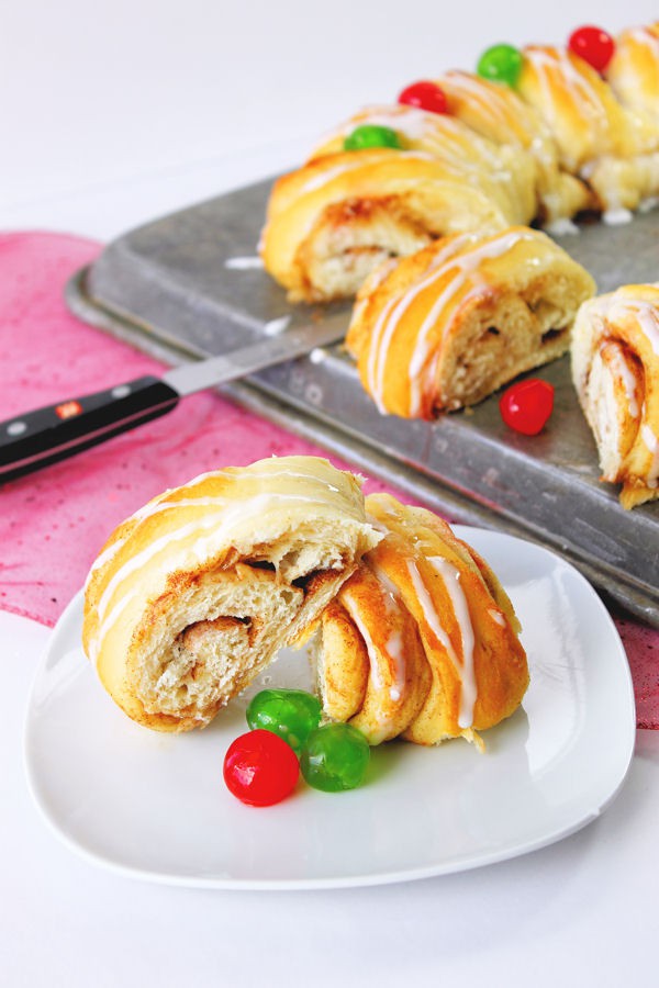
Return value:
M 456 530 L 510 593 L 530 664 L 523 708 L 485 732 L 485 754 L 461 740 L 390 743 L 373 751 L 359 789 L 330 795 L 301 784 L 278 806 L 246 807 L 222 781 L 224 752 L 247 729 L 246 700 L 205 731 L 167 736 L 134 725 L 82 653 L 79 595 L 38 667 L 25 732 L 31 788 L 57 834 L 99 864 L 157 882 L 320 888 L 503 861 L 597 817 L 625 778 L 635 740 L 615 627 L 558 557 L 510 536 Z M 268 676 L 300 685 L 305 670 L 291 652 Z

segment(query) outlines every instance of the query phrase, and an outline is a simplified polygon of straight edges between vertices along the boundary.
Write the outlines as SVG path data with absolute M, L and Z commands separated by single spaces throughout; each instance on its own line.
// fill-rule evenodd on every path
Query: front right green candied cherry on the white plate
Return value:
M 340 793 L 364 781 L 370 746 L 361 731 L 349 723 L 326 723 L 306 739 L 300 768 L 314 789 Z

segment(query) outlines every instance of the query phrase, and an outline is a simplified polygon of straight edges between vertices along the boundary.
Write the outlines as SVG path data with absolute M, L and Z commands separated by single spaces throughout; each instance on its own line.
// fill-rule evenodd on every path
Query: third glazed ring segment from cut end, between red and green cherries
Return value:
M 565 231 L 572 216 L 594 207 L 588 186 L 561 168 L 558 147 L 540 114 L 510 86 L 458 70 L 437 82 L 451 116 L 533 169 L 536 212 L 545 226 Z

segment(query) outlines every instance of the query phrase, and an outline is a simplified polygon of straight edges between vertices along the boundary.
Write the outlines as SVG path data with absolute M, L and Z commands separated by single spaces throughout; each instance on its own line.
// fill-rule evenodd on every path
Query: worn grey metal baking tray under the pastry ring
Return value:
M 347 327 L 348 304 L 291 306 L 258 266 L 270 187 L 259 182 L 125 234 L 71 280 L 69 306 L 168 363 L 309 321 Z M 599 291 L 659 280 L 658 210 L 622 226 L 584 224 L 557 240 Z M 600 482 L 568 358 L 535 373 L 556 389 L 550 424 L 536 437 L 506 429 L 496 395 L 435 423 L 380 415 L 340 346 L 222 391 L 454 520 L 558 551 L 605 595 L 659 627 L 659 502 L 625 512 L 616 489 Z

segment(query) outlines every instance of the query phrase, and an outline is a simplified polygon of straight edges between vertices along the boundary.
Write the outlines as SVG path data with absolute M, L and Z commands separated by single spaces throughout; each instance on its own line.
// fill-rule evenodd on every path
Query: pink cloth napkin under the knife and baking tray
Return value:
M 161 370 L 68 313 L 64 285 L 99 250 L 59 234 L 0 235 L 0 419 Z M 109 534 L 150 497 L 220 465 L 290 453 L 325 456 L 204 392 L 164 418 L 0 487 L 0 608 L 53 626 Z M 366 490 L 390 489 L 369 480 Z M 659 728 L 659 632 L 614 618 L 638 726 Z

